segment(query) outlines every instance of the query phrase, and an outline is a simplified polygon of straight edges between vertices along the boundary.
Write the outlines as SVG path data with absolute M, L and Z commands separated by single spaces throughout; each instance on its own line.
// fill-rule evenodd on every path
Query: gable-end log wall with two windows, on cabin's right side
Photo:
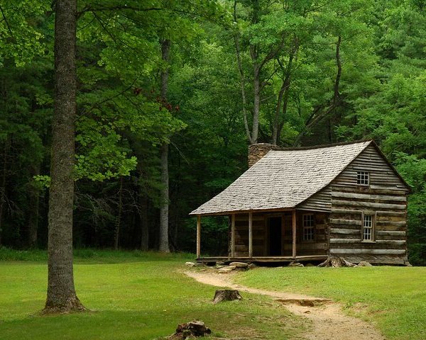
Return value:
M 358 171 L 368 172 L 368 185 L 357 184 Z M 408 191 L 376 148 L 367 147 L 330 188 L 330 255 L 354 263 L 405 263 Z M 363 214 L 373 216 L 371 241 L 363 240 Z

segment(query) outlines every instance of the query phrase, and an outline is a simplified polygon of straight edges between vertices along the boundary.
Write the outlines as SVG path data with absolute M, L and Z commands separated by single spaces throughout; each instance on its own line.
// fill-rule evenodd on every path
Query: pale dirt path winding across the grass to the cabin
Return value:
M 348 317 L 342 312 L 342 306 L 332 300 L 301 294 L 273 292 L 237 285 L 232 281 L 232 274 L 214 272 L 185 272 L 200 283 L 222 288 L 232 288 L 240 292 L 268 295 L 283 302 L 285 307 L 296 315 L 312 321 L 312 329 L 306 334 L 310 340 L 385 340 L 371 324 Z

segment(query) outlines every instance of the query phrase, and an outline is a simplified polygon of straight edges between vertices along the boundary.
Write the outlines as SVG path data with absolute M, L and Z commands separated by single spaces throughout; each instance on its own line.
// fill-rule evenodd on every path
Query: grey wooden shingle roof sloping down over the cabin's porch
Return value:
M 295 208 L 327 186 L 371 142 L 271 150 L 190 215 Z

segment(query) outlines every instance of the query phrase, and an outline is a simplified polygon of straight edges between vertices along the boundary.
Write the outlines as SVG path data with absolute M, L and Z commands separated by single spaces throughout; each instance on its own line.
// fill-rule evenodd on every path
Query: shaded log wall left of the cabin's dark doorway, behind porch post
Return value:
M 265 216 L 261 213 L 253 213 L 253 256 L 264 256 L 265 234 Z M 235 256 L 249 256 L 248 213 L 236 214 L 235 216 Z

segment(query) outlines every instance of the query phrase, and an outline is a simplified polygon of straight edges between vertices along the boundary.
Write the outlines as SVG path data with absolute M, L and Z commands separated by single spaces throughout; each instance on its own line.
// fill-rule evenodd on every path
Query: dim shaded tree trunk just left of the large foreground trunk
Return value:
M 40 164 L 35 164 L 31 167 L 31 175 L 37 176 L 39 174 Z M 30 248 L 35 248 L 37 246 L 40 188 L 34 183 L 34 181 L 31 181 L 30 183 L 28 196 L 28 246 Z

